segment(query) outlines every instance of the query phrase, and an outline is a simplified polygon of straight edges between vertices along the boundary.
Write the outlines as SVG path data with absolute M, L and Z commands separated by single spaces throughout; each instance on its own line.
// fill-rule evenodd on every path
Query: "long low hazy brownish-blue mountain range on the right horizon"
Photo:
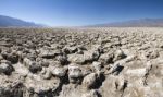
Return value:
M 140 19 L 124 22 L 90 25 L 92 27 L 163 27 L 163 19 Z

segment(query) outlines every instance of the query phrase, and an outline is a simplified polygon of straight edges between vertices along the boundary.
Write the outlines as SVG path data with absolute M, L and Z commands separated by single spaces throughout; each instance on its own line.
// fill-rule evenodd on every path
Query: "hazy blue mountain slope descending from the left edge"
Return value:
M 0 15 L 0 27 L 42 27 L 43 25 Z

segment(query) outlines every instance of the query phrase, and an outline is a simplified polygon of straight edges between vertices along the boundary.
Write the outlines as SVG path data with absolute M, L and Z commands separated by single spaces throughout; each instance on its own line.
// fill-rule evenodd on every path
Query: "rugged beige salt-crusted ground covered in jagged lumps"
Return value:
M 163 97 L 163 28 L 0 28 L 0 97 Z

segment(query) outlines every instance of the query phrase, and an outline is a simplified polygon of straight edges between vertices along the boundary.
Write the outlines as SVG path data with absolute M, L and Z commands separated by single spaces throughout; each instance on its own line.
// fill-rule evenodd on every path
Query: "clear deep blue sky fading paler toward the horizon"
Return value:
M 163 17 L 163 0 L 0 0 L 0 15 L 50 26 Z

